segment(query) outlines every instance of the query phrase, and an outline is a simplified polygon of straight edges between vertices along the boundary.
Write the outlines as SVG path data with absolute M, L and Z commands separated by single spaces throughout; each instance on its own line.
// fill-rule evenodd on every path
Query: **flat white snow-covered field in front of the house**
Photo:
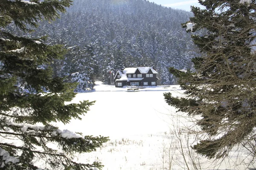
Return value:
M 77 94 L 72 101 L 96 100 L 96 103 L 81 121 L 58 124 L 60 129 L 110 138 L 96 152 L 77 155 L 78 161 L 101 161 L 105 165 L 103 170 L 245 169 L 240 165 L 246 156 L 244 152 L 238 154 L 234 150 L 230 159 L 213 164 L 190 149 L 190 144 L 196 142 L 195 136 L 187 134 L 182 127 L 192 128 L 193 124 L 183 117 L 186 114 L 176 113 L 175 108 L 167 105 L 163 97 L 164 92 L 182 96 L 179 85 L 144 88 L 138 92 L 126 90 L 97 82 L 95 91 Z

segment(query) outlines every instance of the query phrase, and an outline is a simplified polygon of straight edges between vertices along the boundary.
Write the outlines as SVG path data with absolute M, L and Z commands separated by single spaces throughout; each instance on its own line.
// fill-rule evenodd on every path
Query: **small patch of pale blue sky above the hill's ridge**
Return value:
M 201 6 L 198 0 L 148 0 L 158 5 L 190 11 L 190 6 Z

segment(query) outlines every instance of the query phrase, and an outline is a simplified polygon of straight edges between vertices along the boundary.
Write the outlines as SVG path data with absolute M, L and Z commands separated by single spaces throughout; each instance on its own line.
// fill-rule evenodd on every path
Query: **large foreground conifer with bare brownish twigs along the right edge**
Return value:
M 169 71 L 179 78 L 186 98 L 164 94 L 166 102 L 189 116 L 204 139 L 194 145 L 208 158 L 221 158 L 239 145 L 256 156 L 256 1 L 199 0 L 194 17 L 183 24 L 202 57 L 192 59 L 195 71 Z

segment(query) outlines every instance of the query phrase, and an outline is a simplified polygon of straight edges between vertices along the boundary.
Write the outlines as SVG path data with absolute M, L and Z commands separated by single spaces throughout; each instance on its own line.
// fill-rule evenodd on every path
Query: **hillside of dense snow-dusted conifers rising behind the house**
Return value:
M 199 55 L 180 26 L 191 16 L 146 0 L 73 0 L 67 13 L 42 22 L 33 36 L 48 35 L 49 43 L 70 49 L 55 73 L 83 82 L 80 90 L 90 89 L 95 78 L 110 82 L 110 71 L 138 66 L 154 66 L 166 85 L 175 83 L 169 67 L 189 69 L 189 59 Z M 84 54 L 88 45 L 90 54 Z

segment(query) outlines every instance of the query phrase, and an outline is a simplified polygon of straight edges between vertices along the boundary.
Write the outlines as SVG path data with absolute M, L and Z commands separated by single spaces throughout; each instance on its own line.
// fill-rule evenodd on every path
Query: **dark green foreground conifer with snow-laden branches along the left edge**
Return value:
M 81 119 L 94 102 L 70 102 L 75 84 L 53 77 L 50 64 L 65 54 L 61 45 L 46 45 L 44 38 L 17 37 L 6 27 L 15 23 L 31 32 L 41 19 L 52 21 L 71 0 L 1 0 L 0 3 L 0 167 L 5 170 L 80 170 L 99 167 L 76 163 L 75 153 L 96 150 L 106 137 L 82 136 L 59 130 L 51 122 Z M 45 92 L 47 91 L 47 93 Z M 49 143 L 56 148 L 49 147 Z

